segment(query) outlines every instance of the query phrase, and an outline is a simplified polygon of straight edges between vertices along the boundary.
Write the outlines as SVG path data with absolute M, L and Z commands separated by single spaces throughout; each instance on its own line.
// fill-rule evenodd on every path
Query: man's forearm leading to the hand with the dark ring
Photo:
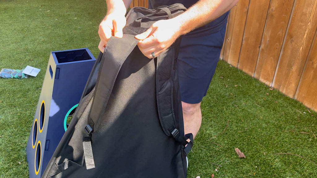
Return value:
M 173 20 L 179 23 L 179 35 L 201 27 L 236 5 L 238 0 L 200 0 Z

